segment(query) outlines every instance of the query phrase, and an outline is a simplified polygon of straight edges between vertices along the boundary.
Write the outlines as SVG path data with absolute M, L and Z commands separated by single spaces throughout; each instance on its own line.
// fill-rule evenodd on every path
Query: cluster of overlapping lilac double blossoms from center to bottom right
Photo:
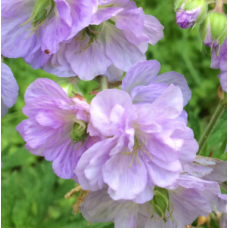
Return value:
M 155 60 L 139 62 L 122 90 L 101 91 L 91 104 L 49 79 L 37 79 L 25 93 L 29 119 L 17 130 L 26 148 L 80 184 L 77 205 L 90 222 L 183 228 L 212 208 L 226 212 L 216 182 L 225 181 L 224 173 L 196 158 L 183 110 L 188 84 L 181 74 L 159 71 Z

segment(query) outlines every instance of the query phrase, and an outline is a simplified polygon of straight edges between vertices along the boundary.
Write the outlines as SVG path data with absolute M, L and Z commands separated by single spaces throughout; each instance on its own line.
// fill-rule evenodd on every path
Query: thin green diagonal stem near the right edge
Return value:
M 205 130 L 205 132 L 203 133 L 202 137 L 200 138 L 199 141 L 199 151 L 198 151 L 198 155 L 202 154 L 203 149 L 207 143 L 208 138 L 210 137 L 211 133 L 213 132 L 217 122 L 219 121 L 219 119 L 221 118 L 222 114 L 225 111 L 225 107 L 224 107 L 224 103 L 222 101 L 219 102 L 209 124 L 207 125 L 207 128 Z

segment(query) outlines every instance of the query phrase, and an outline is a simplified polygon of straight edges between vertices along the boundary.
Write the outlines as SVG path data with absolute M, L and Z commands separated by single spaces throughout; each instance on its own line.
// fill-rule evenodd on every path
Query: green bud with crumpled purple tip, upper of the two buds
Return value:
M 207 14 L 205 0 L 178 0 L 175 2 L 177 24 L 181 28 L 189 28 L 201 23 Z

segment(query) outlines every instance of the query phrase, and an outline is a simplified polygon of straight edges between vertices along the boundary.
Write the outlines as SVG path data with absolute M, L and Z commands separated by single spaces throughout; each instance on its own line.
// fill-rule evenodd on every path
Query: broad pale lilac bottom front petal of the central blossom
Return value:
M 146 187 L 147 171 L 143 160 L 132 156 L 113 156 L 102 169 L 104 181 L 109 185 L 108 193 L 114 200 L 132 200 Z

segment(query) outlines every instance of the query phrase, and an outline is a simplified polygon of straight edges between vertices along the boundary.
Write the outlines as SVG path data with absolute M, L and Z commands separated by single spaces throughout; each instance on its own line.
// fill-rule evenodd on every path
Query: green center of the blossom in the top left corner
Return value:
M 31 16 L 26 22 L 21 24 L 21 26 L 32 21 L 32 34 L 44 23 L 50 13 L 53 11 L 54 7 L 55 2 L 53 0 L 36 0 Z

